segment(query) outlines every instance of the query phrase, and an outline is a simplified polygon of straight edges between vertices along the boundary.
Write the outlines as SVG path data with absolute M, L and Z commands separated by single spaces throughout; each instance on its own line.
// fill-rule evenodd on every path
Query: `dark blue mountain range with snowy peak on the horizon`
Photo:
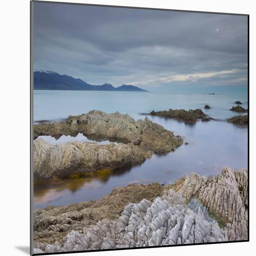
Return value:
M 34 70 L 34 90 L 77 90 L 77 91 L 128 91 L 128 92 L 148 92 L 133 85 L 123 84 L 114 87 L 105 83 L 102 85 L 92 85 L 79 78 L 74 78 L 66 74 L 58 74 L 53 71 L 36 69 Z

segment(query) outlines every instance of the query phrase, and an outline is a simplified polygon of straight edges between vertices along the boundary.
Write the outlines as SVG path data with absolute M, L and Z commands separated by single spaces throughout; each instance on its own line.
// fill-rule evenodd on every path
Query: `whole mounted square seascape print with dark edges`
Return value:
M 248 24 L 31 2 L 31 254 L 249 241 Z

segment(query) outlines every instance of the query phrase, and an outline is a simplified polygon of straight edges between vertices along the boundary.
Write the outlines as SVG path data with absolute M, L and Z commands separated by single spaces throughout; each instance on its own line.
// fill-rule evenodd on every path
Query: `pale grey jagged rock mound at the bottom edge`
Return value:
M 103 219 L 82 233 L 72 231 L 53 245 L 37 244 L 46 253 L 227 241 L 217 222 L 188 209 L 173 189 L 154 202 L 128 204 L 119 219 Z

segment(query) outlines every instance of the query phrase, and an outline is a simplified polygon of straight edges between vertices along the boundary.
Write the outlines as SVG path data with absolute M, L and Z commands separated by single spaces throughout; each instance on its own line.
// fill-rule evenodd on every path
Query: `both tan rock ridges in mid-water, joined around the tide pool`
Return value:
M 69 116 L 64 122 L 34 125 L 34 138 L 40 135 L 72 135 L 75 132 L 90 138 L 104 137 L 126 143 L 99 145 L 71 141 L 51 145 L 42 139 L 34 140 L 35 180 L 139 164 L 150 158 L 152 152 L 168 153 L 183 143 L 181 136 L 175 136 L 147 117 L 135 121 L 119 112 L 108 115 L 93 110 L 88 114 Z

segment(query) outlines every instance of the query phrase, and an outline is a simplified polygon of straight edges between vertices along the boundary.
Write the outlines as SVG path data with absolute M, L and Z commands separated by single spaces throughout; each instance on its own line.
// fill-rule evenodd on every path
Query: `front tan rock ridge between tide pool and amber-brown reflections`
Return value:
M 34 179 L 117 168 L 144 162 L 151 155 L 151 151 L 133 143 L 99 145 L 71 141 L 51 145 L 38 139 L 34 141 Z

